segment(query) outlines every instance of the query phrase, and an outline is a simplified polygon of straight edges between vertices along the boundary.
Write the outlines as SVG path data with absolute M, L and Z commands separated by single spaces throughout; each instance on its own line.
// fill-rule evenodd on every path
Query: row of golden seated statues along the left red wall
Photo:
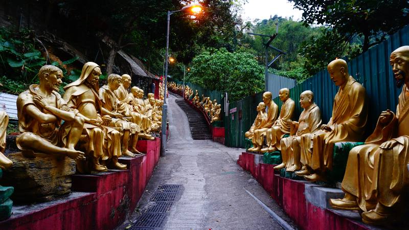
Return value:
M 14 187 L 14 198 L 24 202 L 50 200 L 54 195 L 69 193 L 74 173 L 125 170 L 118 157 L 144 155 L 137 150 L 138 139 L 153 140 L 162 123 L 163 87 L 160 99 L 137 86 L 128 89 L 131 77 L 111 74 L 107 84 L 99 87 L 101 68 L 87 62 L 80 77 L 64 87 L 59 86 L 63 72 L 54 65 L 40 68 L 39 84 L 17 98 L 18 128 L 21 134 L 15 144 L 21 152 L 3 154 L 6 147 L 8 116 L 0 111 L 0 169 L 2 180 Z M 56 168 L 50 168 L 51 165 Z M 42 172 L 47 168 L 47 172 Z M 36 174 L 51 174 L 38 179 Z M 50 178 L 51 177 L 51 178 Z M 37 179 L 36 179 L 37 178 Z M 12 187 L 0 197 L 7 202 L 10 216 Z M 6 217 L 7 216 L 7 217 Z

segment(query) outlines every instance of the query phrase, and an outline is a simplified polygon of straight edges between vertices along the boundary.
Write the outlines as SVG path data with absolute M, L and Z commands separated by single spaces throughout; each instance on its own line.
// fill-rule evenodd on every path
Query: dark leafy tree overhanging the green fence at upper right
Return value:
M 385 40 L 407 25 L 408 1 L 402 0 L 289 0 L 303 12 L 304 24 L 329 25 L 352 41 L 362 38 L 358 53 Z

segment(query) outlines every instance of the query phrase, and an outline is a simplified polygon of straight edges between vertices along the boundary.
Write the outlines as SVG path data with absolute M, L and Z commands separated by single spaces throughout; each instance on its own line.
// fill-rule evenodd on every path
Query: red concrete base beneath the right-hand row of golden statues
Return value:
M 308 182 L 281 177 L 275 174 L 274 165 L 256 165 L 254 158 L 255 154 L 243 152 L 237 164 L 257 179 L 301 229 L 370 229 L 368 225 L 359 222 L 359 219 L 351 219 L 348 215 L 343 216 L 334 210 L 315 206 L 306 200 L 305 187 Z

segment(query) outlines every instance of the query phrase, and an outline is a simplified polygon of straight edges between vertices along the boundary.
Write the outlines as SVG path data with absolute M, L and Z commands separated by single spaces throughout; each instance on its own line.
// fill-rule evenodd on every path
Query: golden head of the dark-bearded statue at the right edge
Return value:
M 409 87 L 409 45 L 394 50 L 391 53 L 390 63 L 396 86 L 401 87 L 405 83 Z

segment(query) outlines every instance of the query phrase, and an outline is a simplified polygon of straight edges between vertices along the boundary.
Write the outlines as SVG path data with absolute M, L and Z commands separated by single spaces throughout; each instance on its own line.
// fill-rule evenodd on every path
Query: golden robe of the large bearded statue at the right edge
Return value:
M 409 89 L 403 85 L 396 116 L 389 124 L 378 120 L 375 131 L 365 145 L 353 148 L 348 155 L 342 189 L 357 197 L 359 208 L 369 211 L 377 202 L 387 207 L 406 196 L 409 185 Z M 385 142 L 398 142 L 392 149 L 382 150 Z

